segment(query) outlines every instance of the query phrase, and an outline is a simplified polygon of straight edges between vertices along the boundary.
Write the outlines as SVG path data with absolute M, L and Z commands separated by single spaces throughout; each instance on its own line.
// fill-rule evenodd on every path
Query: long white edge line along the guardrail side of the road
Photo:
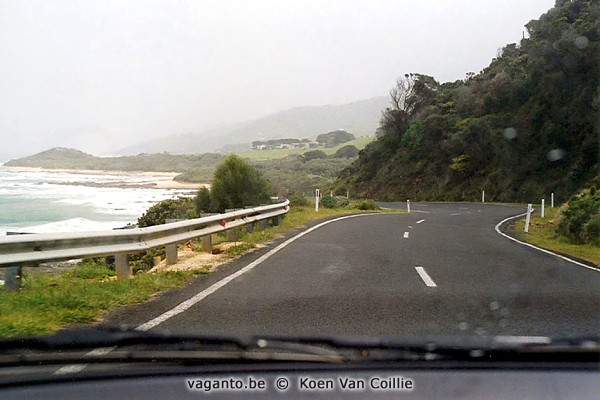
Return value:
M 309 228 L 307 230 L 305 230 L 304 232 L 301 232 L 299 234 L 297 234 L 296 236 L 286 240 L 285 242 L 281 243 L 279 246 L 275 247 L 274 249 L 270 250 L 269 252 L 267 252 L 266 254 L 262 255 L 261 257 L 259 257 L 258 259 L 256 259 L 255 261 L 251 262 L 250 264 L 246 265 L 244 268 L 240 269 L 239 271 L 221 279 L 219 282 L 214 283 L 213 285 L 209 286 L 208 288 L 204 289 L 203 291 L 197 293 L 196 295 L 194 295 L 193 297 L 190 297 L 188 300 L 180 303 L 179 305 L 175 306 L 174 308 L 170 309 L 169 311 L 159 315 L 158 317 L 151 319 L 150 321 L 143 323 L 142 325 L 138 326 L 136 329 L 140 330 L 140 331 L 147 331 L 150 330 L 152 328 L 154 328 L 157 325 L 162 324 L 163 322 L 165 322 L 166 320 L 173 318 L 174 316 L 181 314 L 182 312 L 186 311 L 187 309 L 189 309 L 190 307 L 192 307 L 193 305 L 195 305 L 196 303 L 202 301 L 203 299 L 205 299 L 207 296 L 213 294 L 214 292 L 216 292 L 217 290 L 221 289 L 223 286 L 227 285 L 229 282 L 231 282 L 232 280 L 234 280 L 235 278 L 245 274 L 246 272 L 252 270 L 254 267 L 256 267 L 257 265 L 259 265 L 260 263 L 262 263 L 263 261 L 267 260 L 268 258 L 270 258 L 272 255 L 274 255 L 275 253 L 277 253 L 278 251 L 280 251 L 281 249 L 283 249 L 284 247 L 288 246 L 289 244 L 291 244 L 292 242 L 296 241 L 297 239 L 300 239 L 302 236 L 316 230 L 319 229 L 322 226 L 325 226 L 327 224 L 331 224 L 333 222 L 337 222 L 337 221 L 341 221 L 344 219 L 348 219 L 348 218 L 356 218 L 356 217 L 363 217 L 366 215 L 383 215 L 383 214 L 356 214 L 356 215 L 348 215 L 345 217 L 340 217 L 340 218 L 335 218 L 335 219 L 331 219 L 329 221 L 325 221 L 325 222 L 321 222 L 318 225 L 313 226 L 312 228 Z

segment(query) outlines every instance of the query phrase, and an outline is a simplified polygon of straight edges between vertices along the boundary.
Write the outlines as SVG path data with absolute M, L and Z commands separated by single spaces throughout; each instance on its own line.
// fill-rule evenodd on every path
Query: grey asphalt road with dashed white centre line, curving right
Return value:
M 104 323 L 225 335 L 600 334 L 600 272 L 495 231 L 524 211 L 418 203 L 410 214 L 342 219 L 258 264 L 285 240 Z

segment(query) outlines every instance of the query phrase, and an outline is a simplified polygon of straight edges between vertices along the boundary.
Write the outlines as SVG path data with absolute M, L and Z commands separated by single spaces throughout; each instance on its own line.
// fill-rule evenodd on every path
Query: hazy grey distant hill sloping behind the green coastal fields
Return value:
M 117 154 L 205 153 L 250 149 L 256 140 L 315 138 L 337 129 L 355 136 L 373 135 L 381 112 L 389 106 L 387 97 L 374 97 L 341 105 L 296 107 L 263 118 L 225 126 L 202 133 L 173 135 L 120 150 Z

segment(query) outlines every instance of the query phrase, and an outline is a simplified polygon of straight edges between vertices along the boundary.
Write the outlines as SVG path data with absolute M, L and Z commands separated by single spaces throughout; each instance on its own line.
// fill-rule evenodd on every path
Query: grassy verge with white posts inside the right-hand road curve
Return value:
M 525 218 L 522 218 L 509 226 L 508 230 L 512 236 L 551 251 L 586 260 L 595 265 L 600 264 L 600 247 L 573 244 L 566 238 L 556 235 L 558 208 L 546 208 L 545 218 L 540 216 L 539 206 L 534 208 L 536 210 L 531 217 L 529 232 L 524 232 Z

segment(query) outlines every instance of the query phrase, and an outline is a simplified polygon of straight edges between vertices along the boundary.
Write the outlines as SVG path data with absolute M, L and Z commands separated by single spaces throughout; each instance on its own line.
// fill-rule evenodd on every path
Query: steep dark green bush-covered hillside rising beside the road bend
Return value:
M 333 185 L 380 200 L 563 202 L 598 175 L 600 3 L 559 0 L 479 74 L 407 74 Z

